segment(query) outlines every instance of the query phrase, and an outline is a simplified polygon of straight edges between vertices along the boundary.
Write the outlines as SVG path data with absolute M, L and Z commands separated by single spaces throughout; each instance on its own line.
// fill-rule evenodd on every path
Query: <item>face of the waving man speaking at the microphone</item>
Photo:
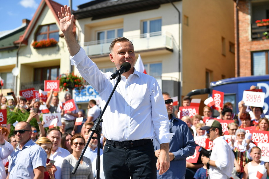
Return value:
M 136 63 L 136 56 L 133 50 L 133 45 L 129 41 L 117 42 L 113 51 L 109 54 L 110 60 L 115 63 L 117 69 L 121 68 L 122 63 L 129 62 L 131 69 Z

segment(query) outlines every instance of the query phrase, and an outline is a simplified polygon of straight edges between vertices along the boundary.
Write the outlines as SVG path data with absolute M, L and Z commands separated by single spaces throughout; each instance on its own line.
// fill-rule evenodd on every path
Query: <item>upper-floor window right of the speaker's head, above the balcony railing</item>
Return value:
M 161 35 L 161 28 L 162 19 L 143 21 L 141 37 Z

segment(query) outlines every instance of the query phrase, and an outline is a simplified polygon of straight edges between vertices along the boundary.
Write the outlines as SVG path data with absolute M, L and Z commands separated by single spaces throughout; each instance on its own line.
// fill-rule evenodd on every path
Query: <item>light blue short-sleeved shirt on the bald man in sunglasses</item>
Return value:
M 20 145 L 11 153 L 9 161 L 9 179 L 34 178 L 34 168 L 46 167 L 47 153 L 30 139 L 20 149 Z

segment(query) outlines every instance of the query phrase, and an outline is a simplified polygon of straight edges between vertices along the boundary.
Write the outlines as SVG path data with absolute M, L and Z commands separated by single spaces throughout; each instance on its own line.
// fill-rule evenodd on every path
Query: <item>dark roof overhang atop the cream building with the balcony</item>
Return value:
M 158 9 L 161 4 L 176 1 L 181 0 L 94 0 L 79 5 L 78 10 L 73 11 L 73 14 L 76 19 L 92 17 L 94 20 Z

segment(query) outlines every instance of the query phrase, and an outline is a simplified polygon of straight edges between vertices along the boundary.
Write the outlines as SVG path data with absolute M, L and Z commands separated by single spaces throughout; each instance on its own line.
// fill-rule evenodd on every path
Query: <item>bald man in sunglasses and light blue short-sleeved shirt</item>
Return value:
M 33 142 L 31 125 L 25 121 L 16 124 L 14 135 L 19 143 L 11 153 L 7 178 L 44 178 L 47 154 Z

